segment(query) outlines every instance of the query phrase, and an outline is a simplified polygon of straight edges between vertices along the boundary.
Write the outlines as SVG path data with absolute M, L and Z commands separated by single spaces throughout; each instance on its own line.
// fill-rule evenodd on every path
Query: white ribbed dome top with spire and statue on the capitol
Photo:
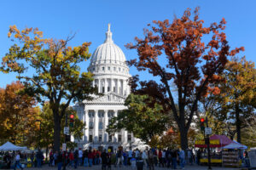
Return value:
M 117 64 L 125 65 L 125 54 L 117 45 L 113 43 L 112 32 L 110 31 L 110 24 L 108 24 L 108 31 L 106 32 L 106 40 L 102 45 L 96 48 L 90 59 L 90 65 L 96 64 Z

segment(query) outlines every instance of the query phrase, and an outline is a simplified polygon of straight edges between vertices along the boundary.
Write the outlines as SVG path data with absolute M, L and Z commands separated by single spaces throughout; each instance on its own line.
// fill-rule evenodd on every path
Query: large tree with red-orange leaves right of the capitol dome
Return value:
M 224 70 L 227 57 L 244 48 L 230 51 L 224 33 L 226 21 L 204 27 L 198 8 L 195 8 L 194 18 L 187 9 L 181 19 L 175 18 L 172 23 L 169 20 L 153 23 L 151 29 L 144 30 L 143 39 L 136 37 L 136 43 L 126 47 L 137 49 L 138 54 L 138 59 L 131 59 L 129 64 L 138 71 L 160 77 L 160 81 L 140 82 L 140 86 L 132 86 L 136 88 L 133 91 L 160 100 L 163 107 L 172 111 L 181 134 L 181 146 L 186 150 L 187 134 L 198 102 L 211 91 L 219 93 L 218 86 L 209 85 L 222 81 L 218 75 Z M 202 42 L 205 37 L 211 37 L 210 41 Z

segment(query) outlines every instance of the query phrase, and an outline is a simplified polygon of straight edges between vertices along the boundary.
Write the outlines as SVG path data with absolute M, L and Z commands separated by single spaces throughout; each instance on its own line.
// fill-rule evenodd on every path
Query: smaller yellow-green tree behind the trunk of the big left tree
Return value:
M 85 124 L 79 120 L 79 116 L 77 115 L 77 112 L 74 111 L 71 107 L 67 109 L 67 119 L 69 119 L 69 116 L 73 114 L 74 115 L 74 125 L 73 127 L 69 127 L 69 132 L 75 139 L 81 139 L 83 136 L 83 130 L 85 127 Z M 38 131 L 38 138 L 40 138 L 40 146 L 46 148 L 47 150 L 54 145 L 54 118 L 53 118 L 53 112 L 50 109 L 49 102 L 44 103 L 44 107 L 42 108 L 42 111 L 39 115 L 39 120 L 41 121 L 41 132 Z M 68 120 L 67 120 L 68 121 Z M 69 126 L 69 125 L 68 125 Z M 61 120 L 61 129 L 65 127 L 65 119 Z M 63 134 L 63 131 L 61 131 L 61 142 L 65 141 L 65 135 Z M 73 142 L 68 142 L 67 146 L 69 148 L 73 148 L 76 146 Z

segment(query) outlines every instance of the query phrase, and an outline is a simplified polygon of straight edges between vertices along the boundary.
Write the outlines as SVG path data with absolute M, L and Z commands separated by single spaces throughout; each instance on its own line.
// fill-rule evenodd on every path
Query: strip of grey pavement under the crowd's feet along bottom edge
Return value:
M 35 168 L 35 167 L 28 167 L 27 170 L 54 170 L 57 169 L 57 167 L 48 167 L 47 165 L 44 165 L 42 168 Z M 73 170 L 73 167 L 67 167 L 66 170 Z M 102 170 L 101 166 L 93 166 L 93 167 L 78 167 L 77 170 Z M 171 170 L 171 168 L 166 167 L 156 167 L 155 170 Z M 207 170 L 207 167 L 202 166 L 186 166 L 185 169 L 191 169 L 191 170 Z M 229 168 L 229 167 L 212 167 L 212 170 L 238 170 L 241 168 Z M 111 170 L 132 170 L 131 167 L 112 167 Z

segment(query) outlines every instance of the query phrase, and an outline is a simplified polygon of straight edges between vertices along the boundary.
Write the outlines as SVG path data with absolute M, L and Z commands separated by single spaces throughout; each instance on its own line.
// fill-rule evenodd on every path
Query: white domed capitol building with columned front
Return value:
M 112 32 L 108 24 L 106 40 L 96 48 L 90 59 L 88 71 L 94 74 L 93 86 L 104 95 L 93 100 L 77 103 L 73 109 L 78 112 L 79 119 L 85 122 L 84 136 L 75 139 L 79 148 L 117 149 L 142 147 L 142 142 L 133 137 L 132 133 L 121 130 L 119 133 L 108 134 L 106 129 L 113 116 L 127 109 L 126 97 L 131 93 L 128 79 L 131 77 L 129 67 L 125 63 L 125 54 L 113 43 Z

